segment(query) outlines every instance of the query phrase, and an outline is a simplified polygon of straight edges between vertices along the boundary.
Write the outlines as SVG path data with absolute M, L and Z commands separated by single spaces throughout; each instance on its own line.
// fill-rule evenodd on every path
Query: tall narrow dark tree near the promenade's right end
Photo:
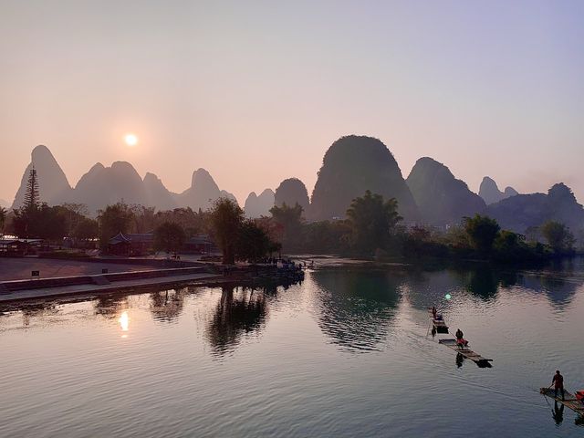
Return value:
M 219 198 L 211 209 L 211 225 L 215 244 L 221 248 L 224 265 L 235 264 L 235 245 L 244 211 L 235 201 Z

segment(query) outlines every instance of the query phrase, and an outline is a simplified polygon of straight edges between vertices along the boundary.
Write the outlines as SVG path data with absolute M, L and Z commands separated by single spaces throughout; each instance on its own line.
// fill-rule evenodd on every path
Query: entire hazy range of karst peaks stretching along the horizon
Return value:
M 205 210 L 220 197 L 235 200 L 235 196 L 220 189 L 204 169 L 193 172 L 191 186 L 183 193 L 172 193 L 151 172 L 142 179 L 129 162 L 113 162 L 110 167 L 98 162 L 72 187 L 47 147 L 37 146 L 31 159 L 13 208 L 23 203 L 33 162 L 41 201 L 84 203 L 89 214 L 120 201 L 140 203 L 157 210 L 176 207 Z M 266 188 L 259 195 L 250 193 L 245 200 L 245 215 L 250 218 L 269 215 L 275 204 L 299 203 L 308 221 L 335 220 L 344 218 L 351 201 L 366 190 L 380 193 L 386 199 L 395 197 L 406 224 L 443 227 L 478 213 L 488 214 L 502 227 L 519 233 L 549 219 L 568 224 L 573 230 L 584 229 L 584 209 L 563 183 L 554 185 L 547 194 L 518 194 L 511 187 L 501 192 L 495 181 L 485 177 L 479 196 L 464 181 L 456 179 L 446 165 L 430 157 L 418 160 L 404 179 L 391 151 L 380 140 L 355 135 L 342 137 L 328 148 L 311 199 L 304 183 L 297 178 L 287 178 L 275 192 Z

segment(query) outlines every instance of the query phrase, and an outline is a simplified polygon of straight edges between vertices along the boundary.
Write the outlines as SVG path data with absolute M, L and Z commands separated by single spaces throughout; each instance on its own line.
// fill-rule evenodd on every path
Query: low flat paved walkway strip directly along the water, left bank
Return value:
M 0 293 L 0 303 L 9 301 L 20 301 L 34 298 L 61 297 L 70 295 L 91 295 L 96 293 L 114 292 L 121 289 L 136 289 L 143 287 L 162 287 L 165 285 L 176 285 L 196 280 L 204 280 L 221 277 L 208 272 L 196 272 L 184 275 L 158 276 L 151 278 L 135 278 L 111 282 L 106 285 L 82 284 L 57 287 L 38 287 L 12 292 Z

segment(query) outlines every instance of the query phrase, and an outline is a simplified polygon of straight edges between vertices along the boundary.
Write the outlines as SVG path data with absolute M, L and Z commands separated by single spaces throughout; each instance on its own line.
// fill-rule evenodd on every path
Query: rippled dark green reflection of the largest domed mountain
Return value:
M 312 274 L 318 293 L 318 325 L 334 344 L 348 351 L 378 349 L 400 301 L 395 272 L 354 268 Z

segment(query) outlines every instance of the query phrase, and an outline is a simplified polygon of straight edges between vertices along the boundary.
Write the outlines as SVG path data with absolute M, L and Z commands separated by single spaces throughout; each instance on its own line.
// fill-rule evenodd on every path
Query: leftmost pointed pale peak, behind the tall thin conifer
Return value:
M 48 150 L 47 146 L 41 144 L 36 146 L 30 155 L 31 162 L 26 166 L 26 170 L 22 175 L 12 208 L 19 208 L 25 202 L 26 183 L 33 164 L 38 178 L 40 201 L 51 205 L 67 202 L 71 194 L 71 186 L 68 183 L 65 172 L 58 165 L 51 151 Z

